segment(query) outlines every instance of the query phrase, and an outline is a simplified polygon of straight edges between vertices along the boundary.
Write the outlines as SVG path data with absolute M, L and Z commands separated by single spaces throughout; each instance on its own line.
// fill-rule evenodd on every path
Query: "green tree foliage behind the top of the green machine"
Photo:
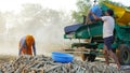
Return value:
M 76 23 L 82 23 L 83 17 L 82 15 L 87 15 L 89 12 L 89 9 L 92 6 L 92 3 L 90 2 L 91 0 L 78 0 L 77 1 L 77 11 L 73 11 L 73 18 L 75 19 Z M 103 2 L 108 2 L 112 4 L 115 4 L 117 6 L 121 6 L 121 8 L 127 8 L 127 10 L 130 10 L 130 6 L 125 6 L 121 3 L 118 2 L 113 2 L 112 0 L 98 0 L 99 5 L 103 4 Z

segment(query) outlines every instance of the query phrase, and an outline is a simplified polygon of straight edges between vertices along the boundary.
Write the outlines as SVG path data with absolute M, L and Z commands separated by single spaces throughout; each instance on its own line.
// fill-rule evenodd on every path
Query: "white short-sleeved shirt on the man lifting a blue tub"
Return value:
M 113 35 L 115 20 L 112 16 L 103 16 L 101 17 L 104 21 L 103 24 L 103 38 L 108 38 Z

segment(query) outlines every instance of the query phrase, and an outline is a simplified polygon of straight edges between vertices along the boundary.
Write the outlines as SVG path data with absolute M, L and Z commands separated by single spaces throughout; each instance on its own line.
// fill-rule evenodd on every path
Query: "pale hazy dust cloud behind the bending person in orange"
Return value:
M 37 54 L 50 55 L 66 48 L 64 27 L 73 24 L 70 13 L 26 3 L 20 13 L 0 13 L 0 54 L 17 55 L 22 36 L 32 34 Z

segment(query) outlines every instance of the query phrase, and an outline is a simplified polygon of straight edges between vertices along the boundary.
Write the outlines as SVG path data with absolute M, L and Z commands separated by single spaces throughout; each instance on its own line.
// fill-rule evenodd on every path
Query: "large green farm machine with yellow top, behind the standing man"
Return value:
M 104 2 L 102 5 L 102 11 L 105 12 L 107 9 L 112 9 L 116 15 L 116 25 L 115 25 L 115 41 L 113 43 L 113 50 L 116 53 L 119 62 L 121 64 L 130 64 L 130 12 L 123 8 L 116 6 L 112 3 Z M 72 44 L 74 47 L 86 47 L 82 50 L 82 60 L 88 58 L 88 61 L 94 61 L 96 56 L 103 55 L 103 23 L 96 21 L 88 25 L 75 25 L 68 28 L 73 30 L 65 32 L 64 39 L 78 39 L 78 40 L 88 40 L 87 42 L 77 42 Z

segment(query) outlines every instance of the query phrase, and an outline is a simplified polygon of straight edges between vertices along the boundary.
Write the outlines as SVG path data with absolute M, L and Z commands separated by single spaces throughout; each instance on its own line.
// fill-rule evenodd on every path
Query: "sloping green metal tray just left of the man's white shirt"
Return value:
M 95 35 L 102 35 L 102 21 L 84 25 L 76 31 L 76 39 L 89 39 Z

